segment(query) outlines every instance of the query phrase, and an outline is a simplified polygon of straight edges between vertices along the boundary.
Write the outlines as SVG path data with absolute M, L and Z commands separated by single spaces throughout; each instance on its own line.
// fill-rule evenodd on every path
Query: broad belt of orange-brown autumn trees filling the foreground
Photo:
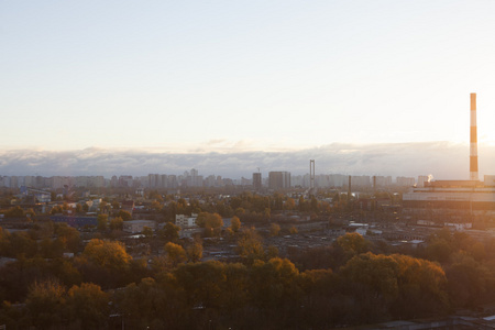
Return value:
M 219 220 L 200 221 L 215 231 Z M 255 229 L 234 223 L 235 262 L 200 262 L 198 239 L 170 238 L 146 260 L 118 241 L 82 244 L 70 228 L 54 231 L 58 250 L 0 231 L 0 254 L 15 257 L 0 267 L 8 329 L 329 329 L 442 316 L 495 294 L 495 241 L 448 230 L 417 249 L 349 233 L 279 256 Z M 75 257 L 61 257 L 70 250 Z

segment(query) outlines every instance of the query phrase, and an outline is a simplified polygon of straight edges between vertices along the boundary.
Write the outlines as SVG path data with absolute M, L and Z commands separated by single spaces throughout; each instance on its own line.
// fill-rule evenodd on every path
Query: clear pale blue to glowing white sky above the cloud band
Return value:
M 495 1 L 0 0 L 0 155 L 464 151 L 471 92 L 493 150 L 493 12 Z

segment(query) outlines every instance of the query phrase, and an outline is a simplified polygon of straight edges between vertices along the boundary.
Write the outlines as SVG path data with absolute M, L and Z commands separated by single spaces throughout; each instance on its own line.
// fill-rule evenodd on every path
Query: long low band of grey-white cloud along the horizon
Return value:
M 222 144 L 223 142 L 218 141 Z M 239 143 L 238 143 L 239 144 Z M 241 143 L 242 144 L 242 143 Z M 219 152 L 157 152 L 156 150 L 0 151 L 0 175 L 133 175 L 183 174 L 196 168 L 200 175 L 251 177 L 261 172 L 309 172 L 316 161 L 317 174 L 418 176 L 437 179 L 469 176 L 469 146 L 449 142 L 343 144 L 333 143 L 297 151 L 243 151 L 232 145 Z M 480 145 L 480 172 L 495 174 L 495 146 Z

